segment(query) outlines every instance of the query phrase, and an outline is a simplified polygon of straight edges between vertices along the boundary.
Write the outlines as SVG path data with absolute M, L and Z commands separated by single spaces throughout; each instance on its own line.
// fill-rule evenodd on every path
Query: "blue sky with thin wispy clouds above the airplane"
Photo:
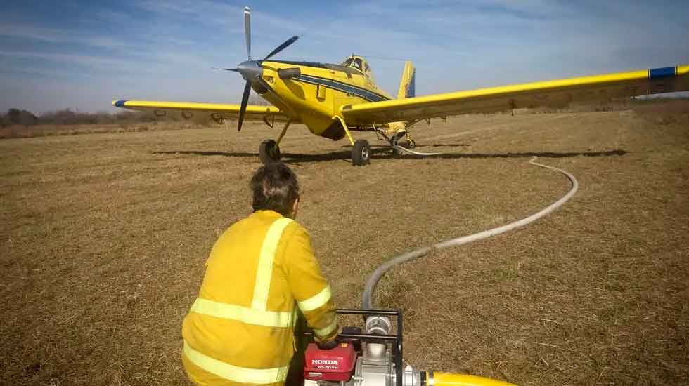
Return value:
M 113 99 L 238 102 L 243 80 L 211 67 L 290 36 L 276 58 L 369 57 L 396 93 L 417 95 L 689 64 L 689 1 L 13 1 L 0 22 L 0 111 L 113 111 Z

